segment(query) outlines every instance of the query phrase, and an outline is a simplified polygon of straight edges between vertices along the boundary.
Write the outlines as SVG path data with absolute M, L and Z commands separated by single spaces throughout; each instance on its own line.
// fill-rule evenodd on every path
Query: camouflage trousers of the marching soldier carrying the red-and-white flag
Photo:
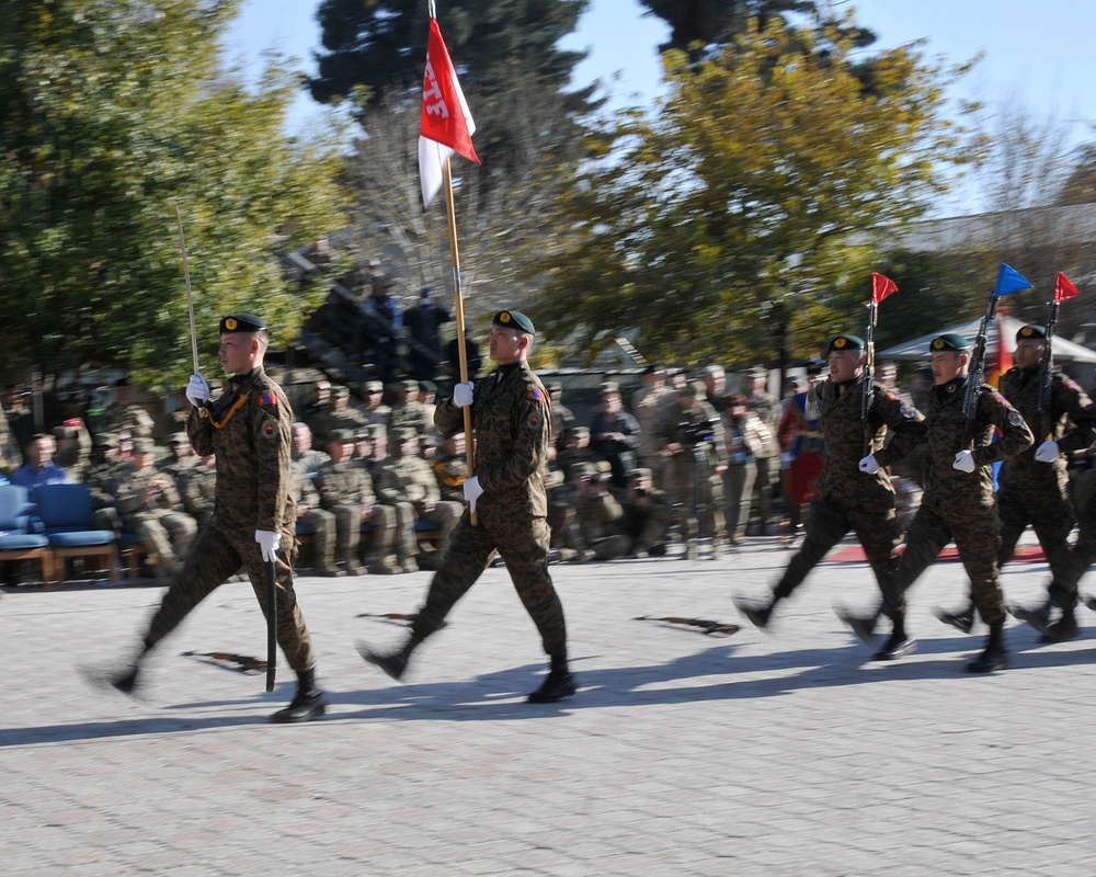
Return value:
M 547 654 L 566 657 L 567 625 L 563 606 L 548 574 L 548 523 L 543 517 L 507 515 L 506 510 L 480 511 L 472 526 L 468 512 L 461 516 L 449 549 L 434 573 L 426 600 L 419 610 L 412 633 L 426 638 L 445 620 L 449 610 L 476 583 L 495 549 L 506 562 L 510 578 Z

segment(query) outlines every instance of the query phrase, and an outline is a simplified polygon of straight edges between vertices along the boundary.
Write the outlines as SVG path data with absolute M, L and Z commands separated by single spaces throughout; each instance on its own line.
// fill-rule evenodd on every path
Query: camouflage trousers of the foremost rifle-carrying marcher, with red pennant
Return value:
M 808 573 L 845 534 L 853 531 L 882 588 L 882 577 L 898 560 L 894 549 L 902 542 L 902 528 L 894 511 L 894 494 L 880 491 L 843 501 L 832 496 L 815 498 L 803 524 L 803 544 L 788 563 L 773 591 L 784 600 L 803 583 Z

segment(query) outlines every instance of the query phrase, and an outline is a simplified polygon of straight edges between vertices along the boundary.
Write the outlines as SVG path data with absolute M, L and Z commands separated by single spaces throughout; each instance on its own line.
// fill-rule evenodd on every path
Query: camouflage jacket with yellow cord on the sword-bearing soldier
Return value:
M 292 425 L 289 400 L 262 366 L 226 381 L 207 415 L 191 409 L 186 434 L 195 453 L 217 455 L 215 526 L 294 532 Z

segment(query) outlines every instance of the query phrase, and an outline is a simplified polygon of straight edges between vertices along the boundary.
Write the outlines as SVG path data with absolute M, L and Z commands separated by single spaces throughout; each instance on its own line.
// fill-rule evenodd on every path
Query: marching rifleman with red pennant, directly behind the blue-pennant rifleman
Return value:
M 1061 372 L 1053 372 L 1050 409 L 1039 411 L 1039 366 L 1046 343 L 1043 327 L 1021 327 L 1016 333 L 1016 365 L 1001 378 L 1001 395 L 1015 406 L 1032 430 L 1039 431 L 1040 444 L 1005 460 L 997 474 L 997 514 L 1001 517 L 997 563 L 1004 566 L 1012 559 L 1020 534 L 1030 524 L 1039 537 L 1053 579 L 1046 604 L 1035 610 L 1015 607 L 1013 612 L 1038 629 L 1044 642 L 1057 642 L 1078 634 L 1074 612 L 1077 577 L 1073 573 L 1074 558 L 1069 542 L 1076 521 L 1070 502 L 1070 479 L 1063 452 L 1081 451 L 1096 441 L 1096 406 L 1076 381 Z M 1073 425 L 1068 429 L 1071 422 Z M 970 633 L 974 623 L 973 603 L 957 613 L 937 614 L 943 622 L 963 633 Z

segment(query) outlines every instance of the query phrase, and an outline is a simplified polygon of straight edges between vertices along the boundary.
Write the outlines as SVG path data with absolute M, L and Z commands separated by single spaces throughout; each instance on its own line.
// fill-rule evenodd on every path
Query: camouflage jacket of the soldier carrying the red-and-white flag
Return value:
M 504 365 L 476 384 L 473 475 L 483 496 L 477 511 L 496 517 L 548 514 L 545 458 L 551 414 L 548 391 L 528 363 Z M 443 435 L 464 430 L 464 413 L 446 399 L 434 411 Z

